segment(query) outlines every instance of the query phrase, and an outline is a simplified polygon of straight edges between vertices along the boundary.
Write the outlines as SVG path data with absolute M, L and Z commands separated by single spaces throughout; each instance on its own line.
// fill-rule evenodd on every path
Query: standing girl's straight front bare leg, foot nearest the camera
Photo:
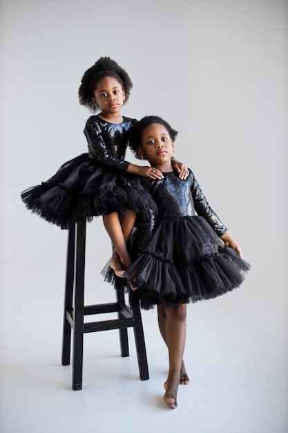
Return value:
M 186 340 L 186 304 L 165 306 L 164 308 L 167 318 L 166 344 L 169 352 L 169 375 L 164 383 L 166 392 L 163 400 L 171 409 L 175 409 Z

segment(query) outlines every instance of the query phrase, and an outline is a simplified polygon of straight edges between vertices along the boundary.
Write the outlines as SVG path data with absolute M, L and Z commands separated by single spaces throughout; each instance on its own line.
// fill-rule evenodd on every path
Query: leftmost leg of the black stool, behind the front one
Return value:
M 66 261 L 66 288 L 64 299 L 62 365 L 70 364 L 71 326 L 66 317 L 66 311 L 72 311 L 75 259 L 75 225 L 69 229 Z

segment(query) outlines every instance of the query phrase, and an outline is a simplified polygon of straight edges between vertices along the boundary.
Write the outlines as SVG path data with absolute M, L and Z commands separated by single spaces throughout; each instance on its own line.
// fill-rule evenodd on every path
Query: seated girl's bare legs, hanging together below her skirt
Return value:
M 103 215 L 104 226 L 114 246 L 110 266 L 118 277 L 122 277 L 124 270 L 131 265 L 126 243 L 135 225 L 136 213 L 133 210 L 126 211 L 121 219 L 117 212 Z

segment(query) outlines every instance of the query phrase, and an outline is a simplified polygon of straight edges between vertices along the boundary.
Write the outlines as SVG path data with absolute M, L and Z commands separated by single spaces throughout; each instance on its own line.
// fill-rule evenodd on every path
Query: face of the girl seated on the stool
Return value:
M 102 114 L 116 114 L 122 109 L 125 92 L 122 85 L 114 77 L 104 77 L 97 83 L 96 89 L 93 92 L 93 104 L 102 111 Z

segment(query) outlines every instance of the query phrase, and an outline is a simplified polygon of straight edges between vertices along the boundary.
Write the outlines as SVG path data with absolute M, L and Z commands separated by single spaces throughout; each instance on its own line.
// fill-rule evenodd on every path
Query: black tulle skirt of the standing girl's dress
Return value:
M 158 221 L 125 277 L 142 308 L 209 300 L 240 286 L 250 265 L 224 246 L 202 216 Z

